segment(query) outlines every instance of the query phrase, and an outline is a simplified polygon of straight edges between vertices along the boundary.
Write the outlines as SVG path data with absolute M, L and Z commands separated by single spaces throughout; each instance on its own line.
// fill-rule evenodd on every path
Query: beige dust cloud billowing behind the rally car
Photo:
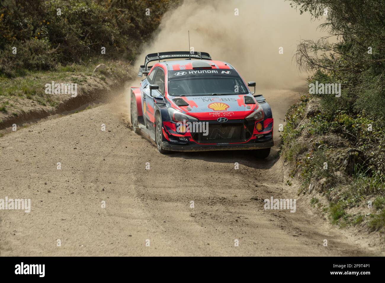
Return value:
M 266 97 L 279 124 L 306 89 L 308 74 L 301 74 L 292 60 L 296 45 L 301 39 L 324 36 L 317 30 L 320 23 L 311 21 L 307 13 L 300 15 L 283 0 L 186 0 L 164 15 L 134 70 L 144 64 L 146 54 L 189 50 L 189 30 L 194 51 L 229 62 L 246 82 L 256 82 L 256 92 Z M 138 84 L 139 80 L 132 85 Z

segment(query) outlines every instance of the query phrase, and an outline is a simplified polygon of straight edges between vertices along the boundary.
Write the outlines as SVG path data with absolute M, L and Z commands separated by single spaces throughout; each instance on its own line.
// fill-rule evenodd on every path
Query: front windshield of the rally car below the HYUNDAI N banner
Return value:
M 172 96 L 247 94 L 248 88 L 233 70 L 232 75 L 198 73 L 187 74 L 185 71 L 174 72 L 168 82 L 168 93 Z M 226 72 L 229 72 L 228 70 Z M 182 74 L 182 75 L 181 75 Z

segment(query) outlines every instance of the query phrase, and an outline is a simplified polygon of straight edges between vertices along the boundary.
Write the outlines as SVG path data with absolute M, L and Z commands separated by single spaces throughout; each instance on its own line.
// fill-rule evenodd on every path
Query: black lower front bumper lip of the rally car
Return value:
M 169 151 L 215 151 L 215 150 L 246 150 L 263 149 L 274 146 L 273 139 L 265 142 L 245 143 L 245 144 L 197 144 L 194 146 L 182 146 L 162 142 L 162 149 Z

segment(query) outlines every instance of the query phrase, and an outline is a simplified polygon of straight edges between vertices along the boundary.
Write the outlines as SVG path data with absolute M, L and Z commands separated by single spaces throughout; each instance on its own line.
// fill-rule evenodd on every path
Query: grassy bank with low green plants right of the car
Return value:
M 368 231 L 385 231 L 384 129 L 365 115 L 339 111 L 327 116 L 322 107 L 320 114 L 305 119 L 308 99 L 303 95 L 289 109 L 281 135 L 280 154 L 292 166 L 290 176 L 302 181 L 298 194 L 307 194 L 309 185 L 315 185 L 311 193 L 325 198 L 328 205 L 323 206 L 315 196 L 310 205 L 320 209 L 332 224 L 341 228 L 363 224 Z M 368 131 L 368 124 L 376 125 L 376 129 Z M 330 142 L 330 135 L 343 142 Z M 341 163 L 349 148 L 365 154 L 365 161 L 358 161 L 354 172 L 345 171 Z M 373 197 L 372 213 L 353 209 L 370 208 L 368 200 Z

